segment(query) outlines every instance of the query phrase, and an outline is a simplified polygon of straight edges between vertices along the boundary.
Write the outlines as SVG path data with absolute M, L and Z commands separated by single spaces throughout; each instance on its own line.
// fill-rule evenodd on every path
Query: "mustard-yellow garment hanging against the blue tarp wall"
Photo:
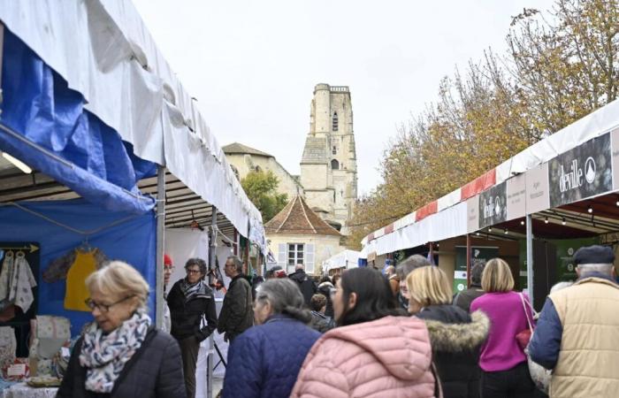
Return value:
M 86 288 L 88 275 L 96 272 L 96 253 L 99 249 L 80 251 L 75 249 L 75 260 L 66 273 L 65 310 L 90 311 L 86 300 L 90 296 Z

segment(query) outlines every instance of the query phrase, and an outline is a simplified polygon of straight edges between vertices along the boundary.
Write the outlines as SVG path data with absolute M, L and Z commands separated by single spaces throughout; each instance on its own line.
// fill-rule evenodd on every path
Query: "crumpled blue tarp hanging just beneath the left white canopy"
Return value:
M 116 131 L 84 110 L 79 92 L 16 35 L 4 33 L 0 123 L 19 136 L 0 128 L 0 150 L 105 209 L 152 210 L 154 199 L 141 195 L 136 181 L 155 175 L 157 165 L 135 157 Z

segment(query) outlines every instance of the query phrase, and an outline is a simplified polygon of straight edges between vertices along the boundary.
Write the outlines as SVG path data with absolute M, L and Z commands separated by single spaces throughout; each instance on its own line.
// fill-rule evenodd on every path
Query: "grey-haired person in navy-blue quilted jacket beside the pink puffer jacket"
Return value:
M 256 292 L 255 326 L 228 350 L 223 398 L 287 398 L 303 359 L 320 333 L 291 279 L 269 279 Z

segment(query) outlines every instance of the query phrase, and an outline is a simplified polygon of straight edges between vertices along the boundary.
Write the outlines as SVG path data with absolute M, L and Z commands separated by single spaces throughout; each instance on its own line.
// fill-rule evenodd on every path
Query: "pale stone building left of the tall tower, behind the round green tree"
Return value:
M 239 180 L 245 178 L 248 172 L 262 170 L 273 172 L 279 180 L 278 194 L 287 194 L 288 200 L 296 195 L 303 195 L 304 191 L 299 183 L 299 176 L 294 176 L 279 165 L 279 162 L 268 153 L 250 148 L 239 142 L 233 142 L 223 147 L 225 158 L 232 166 L 233 172 Z

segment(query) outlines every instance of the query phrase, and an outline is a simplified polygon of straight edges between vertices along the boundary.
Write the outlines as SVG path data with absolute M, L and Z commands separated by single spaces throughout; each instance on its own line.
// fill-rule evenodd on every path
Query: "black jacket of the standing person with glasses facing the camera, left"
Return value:
M 177 281 L 168 295 L 168 308 L 172 321 L 171 334 L 177 340 L 195 336 L 198 341 L 203 341 L 217 329 L 217 311 L 215 310 L 215 298 L 213 291 L 205 283 L 202 289 L 189 300 L 183 295 L 180 282 Z M 201 327 L 202 319 L 206 325 Z

